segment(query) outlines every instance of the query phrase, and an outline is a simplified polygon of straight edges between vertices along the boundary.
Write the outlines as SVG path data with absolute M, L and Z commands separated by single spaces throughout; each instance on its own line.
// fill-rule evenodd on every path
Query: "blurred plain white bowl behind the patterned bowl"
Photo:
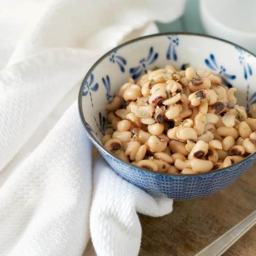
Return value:
M 255 0 L 200 0 L 200 14 L 208 34 L 256 53 Z

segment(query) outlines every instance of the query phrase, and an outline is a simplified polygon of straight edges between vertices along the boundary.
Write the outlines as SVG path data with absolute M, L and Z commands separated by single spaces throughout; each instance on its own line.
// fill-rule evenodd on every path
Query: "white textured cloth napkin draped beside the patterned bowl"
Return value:
M 97 255 L 138 255 L 136 211 L 171 212 L 171 199 L 129 184 L 99 155 L 92 162 L 72 102 L 101 54 L 155 33 L 152 20 L 174 20 L 183 6 L 58 0 L 30 22 L 0 72 L 0 255 L 82 255 L 90 237 Z

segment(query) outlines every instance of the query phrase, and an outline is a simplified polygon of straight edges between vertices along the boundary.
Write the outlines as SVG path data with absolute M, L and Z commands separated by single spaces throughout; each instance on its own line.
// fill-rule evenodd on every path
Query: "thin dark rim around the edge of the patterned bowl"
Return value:
M 83 124 L 83 127 L 85 128 L 86 130 L 86 133 L 87 135 L 89 136 L 89 138 L 91 138 L 93 140 L 93 144 L 95 146 L 98 146 L 100 147 L 100 149 L 102 151 L 104 151 L 104 153 L 106 153 L 106 155 L 109 155 L 111 156 L 112 158 L 114 158 L 117 162 L 121 162 L 123 165 L 127 165 L 128 168 L 132 168 L 132 169 L 136 169 L 136 170 L 139 170 L 139 171 L 143 171 L 143 172 L 146 172 L 146 173 L 153 173 L 155 175 L 163 175 L 163 176 L 173 176 L 173 177 L 176 177 L 176 178 L 182 178 L 182 177 L 198 177 L 198 176 L 207 176 L 207 175 L 212 175 L 213 173 L 222 173 L 222 172 L 225 172 L 225 171 L 228 171 L 231 167 L 235 167 L 237 165 L 240 165 L 246 161 L 248 161 L 250 158 L 253 158 L 256 156 L 256 151 L 254 153 L 251 153 L 249 156 L 245 157 L 242 161 L 238 162 L 238 163 L 235 163 L 235 164 L 232 164 L 228 167 L 225 167 L 225 168 L 221 168 L 221 169 L 216 169 L 216 170 L 212 170 L 212 171 L 209 171 L 209 172 L 205 172 L 205 173 L 197 173 L 197 174 L 182 174 L 180 175 L 179 173 L 159 173 L 159 172 L 156 172 L 156 171 L 151 171 L 149 169 L 145 169 L 145 168 L 140 168 L 140 167 L 137 167 L 136 165 L 133 165 L 131 163 L 127 163 L 127 162 L 124 162 L 122 159 L 116 157 L 112 152 L 106 150 L 106 148 L 103 146 L 103 144 L 101 144 L 100 142 L 98 142 L 98 139 L 95 138 L 95 135 L 91 132 L 91 130 L 88 128 L 87 124 L 86 124 L 86 120 L 85 120 L 85 117 L 83 115 L 83 109 L 82 109 L 82 91 L 83 91 L 83 85 L 84 85 L 84 82 L 87 81 L 87 79 L 89 78 L 89 75 L 91 75 L 92 71 L 95 69 L 95 67 L 102 61 L 104 60 L 107 56 L 109 56 L 112 52 L 114 51 L 117 51 L 118 49 L 126 46 L 126 45 L 129 45 L 130 43 L 133 43 L 133 42 L 136 42 L 136 41 L 140 41 L 140 40 L 145 40 L 147 38 L 151 38 L 151 37 L 158 37 L 158 36 L 167 36 L 167 35 L 187 35 L 187 36 L 198 36 L 198 37 L 206 37 L 206 38 L 210 38 L 210 39 L 214 39 L 214 40 L 217 40 L 217 41 L 222 41 L 222 42 L 225 42 L 229 45 L 232 45 L 232 46 L 237 46 L 239 47 L 240 49 L 246 51 L 247 53 L 250 53 L 253 57 L 256 58 L 255 54 L 253 54 L 252 52 L 246 50 L 244 47 L 242 46 L 239 46 L 235 43 L 232 43 L 228 40 L 225 40 L 225 39 L 221 39 L 219 37 L 215 37 L 215 36 L 210 36 L 210 35 L 203 35 L 203 34 L 198 34 L 198 33 L 187 33 L 187 32 L 164 32 L 164 33 L 156 33 L 156 34 L 150 34 L 150 35 L 146 35 L 146 36 L 140 36 L 140 37 L 136 37 L 135 39 L 132 39 L 132 40 L 129 40 L 127 42 L 124 42 L 122 43 L 121 45 L 118 45 L 116 46 L 115 48 L 112 48 L 110 51 L 106 52 L 103 56 L 101 56 L 92 66 L 91 68 L 87 71 L 85 77 L 83 78 L 83 81 L 81 83 L 81 86 L 80 86 L 80 89 L 79 89 L 79 92 L 78 92 L 78 112 L 79 112 L 79 116 L 80 116 L 80 119 L 81 119 L 81 122 Z

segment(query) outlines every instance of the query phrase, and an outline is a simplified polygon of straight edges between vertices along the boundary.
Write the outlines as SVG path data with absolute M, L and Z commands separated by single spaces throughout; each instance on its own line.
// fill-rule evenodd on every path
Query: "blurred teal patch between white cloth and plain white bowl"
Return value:
M 187 0 L 183 16 L 176 21 L 156 24 L 160 33 L 177 31 L 206 34 L 200 18 L 199 0 Z

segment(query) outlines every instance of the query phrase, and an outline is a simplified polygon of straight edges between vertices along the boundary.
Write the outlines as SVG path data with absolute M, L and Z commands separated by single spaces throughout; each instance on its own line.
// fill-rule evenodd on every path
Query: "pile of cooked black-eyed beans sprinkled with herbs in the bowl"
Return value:
M 256 104 L 246 113 L 236 89 L 212 71 L 148 71 L 121 86 L 102 143 L 123 161 L 165 173 L 227 167 L 256 150 Z

